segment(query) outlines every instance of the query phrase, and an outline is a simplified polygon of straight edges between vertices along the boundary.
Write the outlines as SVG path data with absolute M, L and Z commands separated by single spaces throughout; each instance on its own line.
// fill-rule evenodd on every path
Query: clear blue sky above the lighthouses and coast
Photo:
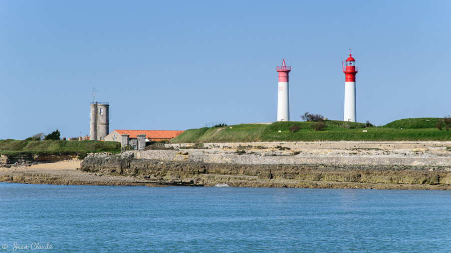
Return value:
M 0 139 L 89 134 L 92 88 L 114 129 L 343 119 L 341 62 L 359 72 L 357 121 L 451 114 L 451 1 L 0 1 Z

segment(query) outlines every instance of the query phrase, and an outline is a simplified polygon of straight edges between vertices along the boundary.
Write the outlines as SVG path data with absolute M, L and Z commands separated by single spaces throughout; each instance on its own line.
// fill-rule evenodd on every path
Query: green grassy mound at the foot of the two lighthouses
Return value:
M 313 130 L 311 125 L 315 122 L 305 121 L 238 124 L 188 129 L 173 138 L 171 142 L 451 140 L 451 130 L 438 130 L 435 127 L 437 120 L 438 118 L 406 118 L 395 120 L 383 126 L 367 128 L 365 128 L 364 123 L 326 120 L 326 127 L 323 130 Z M 294 124 L 299 125 L 300 129 L 296 132 L 290 132 L 290 126 Z M 363 130 L 367 131 L 363 132 Z

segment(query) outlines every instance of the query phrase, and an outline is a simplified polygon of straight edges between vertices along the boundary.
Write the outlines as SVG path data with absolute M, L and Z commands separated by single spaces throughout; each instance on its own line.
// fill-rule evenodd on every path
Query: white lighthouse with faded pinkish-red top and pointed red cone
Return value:
M 288 98 L 288 72 L 291 66 L 285 65 L 285 58 L 282 66 L 276 67 L 279 72 L 279 87 L 277 92 L 277 121 L 290 121 L 290 101 Z

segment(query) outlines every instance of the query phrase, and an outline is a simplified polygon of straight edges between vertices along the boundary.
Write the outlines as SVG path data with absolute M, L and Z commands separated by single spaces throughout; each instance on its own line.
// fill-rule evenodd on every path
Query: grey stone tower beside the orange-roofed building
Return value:
M 109 131 L 108 102 L 91 102 L 91 118 L 89 124 L 89 139 L 104 140 Z

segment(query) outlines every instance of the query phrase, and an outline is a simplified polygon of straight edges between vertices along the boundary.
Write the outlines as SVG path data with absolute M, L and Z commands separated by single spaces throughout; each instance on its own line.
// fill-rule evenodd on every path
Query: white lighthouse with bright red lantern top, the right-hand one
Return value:
M 355 74 L 358 71 L 358 67 L 355 66 L 355 59 L 351 55 L 352 54 L 350 53 L 349 57 L 342 62 L 343 73 L 345 73 L 345 106 L 343 120 L 356 122 Z

